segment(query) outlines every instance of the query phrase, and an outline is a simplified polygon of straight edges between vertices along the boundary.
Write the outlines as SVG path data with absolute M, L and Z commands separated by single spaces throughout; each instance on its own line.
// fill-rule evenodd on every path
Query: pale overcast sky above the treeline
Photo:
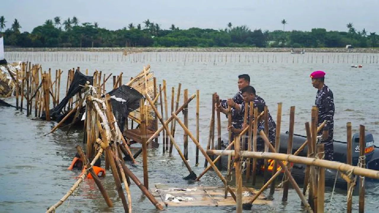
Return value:
M 228 22 L 254 30 L 310 31 L 312 28 L 347 31 L 352 22 L 357 30 L 379 33 L 379 0 L 2 0 L 0 16 L 6 28 L 16 18 L 21 31 L 32 31 L 46 19 L 61 22 L 76 16 L 79 22 L 97 22 L 116 30 L 146 19 L 167 29 L 221 29 Z

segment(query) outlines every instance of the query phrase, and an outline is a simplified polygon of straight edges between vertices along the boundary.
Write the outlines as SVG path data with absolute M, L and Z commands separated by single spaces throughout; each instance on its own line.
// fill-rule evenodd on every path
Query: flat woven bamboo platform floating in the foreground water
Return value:
M 235 192 L 235 188 L 231 189 Z M 152 185 L 150 188 L 151 193 L 157 199 L 161 205 L 165 206 L 234 206 L 236 202 L 233 197 L 228 193 L 228 197 L 225 199 L 225 188 L 217 186 L 199 186 L 187 188 L 175 188 L 169 187 L 157 183 Z M 258 190 L 254 188 L 242 188 L 242 203 L 247 202 L 252 198 L 252 196 L 257 193 Z M 180 200 L 179 202 L 174 202 L 172 200 L 165 200 L 166 194 L 174 197 L 189 198 L 190 200 Z M 179 198 L 180 199 L 180 198 Z M 163 201 L 162 201 L 163 200 Z M 254 204 L 267 205 L 271 204 L 271 201 L 266 200 L 266 197 L 262 194 L 254 201 Z

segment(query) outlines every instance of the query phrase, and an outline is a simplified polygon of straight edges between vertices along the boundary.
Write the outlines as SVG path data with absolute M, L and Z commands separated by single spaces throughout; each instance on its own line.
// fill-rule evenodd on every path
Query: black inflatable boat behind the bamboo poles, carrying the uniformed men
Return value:
M 287 153 L 287 143 L 288 143 L 288 132 L 281 133 L 280 134 L 280 153 Z M 302 135 L 294 135 L 293 136 L 293 145 L 292 145 L 292 153 L 294 153 L 305 141 L 306 136 Z M 228 134 L 222 135 L 222 144 L 224 144 L 222 149 L 226 148 L 226 145 L 228 141 Z M 374 169 L 379 171 L 379 147 L 374 146 L 374 138 L 371 133 L 366 132 L 365 135 L 365 141 L 366 141 L 366 148 L 365 148 L 365 154 L 366 154 L 366 168 L 368 169 Z M 334 160 L 339 161 L 342 163 L 346 163 L 346 153 L 347 153 L 347 143 L 342 141 L 334 141 Z M 307 147 L 304 148 L 299 153 L 299 156 L 307 156 Z M 357 165 L 359 158 L 359 133 L 355 133 L 352 136 L 352 164 L 354 166 Z M 222 156 L 222 169 L 227 169 L 227 156 Z M 217 165 L 217 164 L 216 164 Z M 259 167 L 259 168 L 258 168 Z M 268 167 L 270 169 L 270 166 Z M 301 183 L 304 181 L 305 176 L 305 168 L 306 165 L 304 164 L 293 164 L 293 169 L 291 174 L 293 175 L 294 179 Z M 263 166 L 257 166 L 257 172 L 258 175 L 263 175 Z M 332 169 L 326 169 L 325 170 L 325 185 L 326 186 L 333 186 L 335 182 L 335 175 L 337 171 Z M 270 171 L 271 175 L 271 171 Z M 370 182 L 379 182 L 377 179 L 368 179 L 367 181 Z M 357 183 L 358 185 L 359 183 Z M 336 187 L 338 188 L 346 188 L 347 183 L 344 179 L 340 177 L 340 175 L 337 176 L 336 181 Z

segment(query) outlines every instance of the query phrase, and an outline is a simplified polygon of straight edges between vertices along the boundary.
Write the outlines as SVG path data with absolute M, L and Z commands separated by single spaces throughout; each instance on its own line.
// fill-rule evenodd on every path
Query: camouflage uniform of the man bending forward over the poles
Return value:
M 266 105 L 265 100 L 263 100 L 262 97 L 260 97 L 260 96 L 255 96 L 252 101 L 253 101 L 254 107 L 256 107 L 256 105 L 258 103 Z M 245 104 L 248 104 L 248 103 L 243 102 L 242 104 L 240 104 L 239 113 L 241 114 L 242 117 L 244 116 L 244 113 L 245 113 Z M 250 105 L 249 104 L 247 105 L 247 110 L 248 110 L 248 112 L 250 112 Z M 247 116 L 246 121 L 247 121 L 247 124 L 249 124 L 249 116 Z M 242 124 L 238 128 L 242 128 Z M 265 120 L 264 119 L 262 119 L 262 121 L 260 121 L 258 123 L 257 130 L 258 130 L 258 135 L 259 135 L 260 130 L 263 130 L 263 131 L 265 130 Z M 268 136 L 267 137 L 273 146 L 275 146 L 275 136 L 276 136 L 276 124 L 275 124 L 273 118 L 271 117 L 271 114 L 268 112 Z M 263 152 L 264 147 L 265 147 L 264 146 L 265 142 L 263 141 L 262 138 L 260 138 L 260 136 L 257 137 L 257 142 L 258 142 L 257 143 L 257 151 Z

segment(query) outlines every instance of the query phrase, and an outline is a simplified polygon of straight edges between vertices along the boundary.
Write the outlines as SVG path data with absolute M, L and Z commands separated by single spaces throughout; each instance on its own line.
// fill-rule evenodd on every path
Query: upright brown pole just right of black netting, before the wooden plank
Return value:
M 147 94 L 147 93 L 146 93 Z M 139 113 L 141 115 L 141 124 L 139 128 L 141 129 L 142 137 L 142 162 L 143 162 L 143 185 L 149 188 L 149 177 L 147 174 L 147 146 L 146 146 L 146 117 L 145 117 L 145 106 L 144 100 L 139 100 Z

